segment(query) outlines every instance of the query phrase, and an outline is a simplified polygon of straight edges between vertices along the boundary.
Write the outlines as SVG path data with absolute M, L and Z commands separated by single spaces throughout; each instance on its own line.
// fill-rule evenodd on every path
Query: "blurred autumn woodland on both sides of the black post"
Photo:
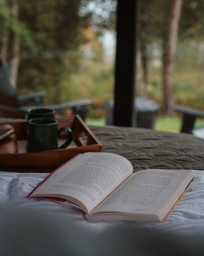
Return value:
M 91 98 L 91 117 L 102 118 L 113 97 L 116 6 L 0 0 L 0 51 L 11 84 L 24 93 L 45 90 L 50 103 Z M 203 13 L 203 0 L 140 1 L 136 93 L 165 114 L 175 104 L 204 109 Z

